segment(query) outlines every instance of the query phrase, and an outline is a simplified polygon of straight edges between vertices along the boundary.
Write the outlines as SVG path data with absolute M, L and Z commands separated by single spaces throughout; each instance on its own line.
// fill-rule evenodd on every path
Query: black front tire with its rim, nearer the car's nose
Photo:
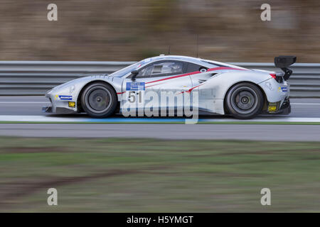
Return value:
M 93 118 L 106 118 L 117 108 L 117 94 L 109 84 L 96 82 L 85 87 L 81 106 Z

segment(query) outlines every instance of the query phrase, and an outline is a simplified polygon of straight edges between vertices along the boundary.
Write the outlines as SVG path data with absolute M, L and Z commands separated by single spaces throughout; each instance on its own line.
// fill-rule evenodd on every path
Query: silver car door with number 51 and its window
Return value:
M 186 74 L 187 64 L 178 60 L 161 60 L 151 62 L 138 70 L 137 77 L 132 80 L 132 75 L 122 83 L 123 104 L 130 109 L 152 108 L 174 109 L 183 103 L 178 101 L 178 96 L 191 89 L 192 82 Z M 172 98 L 174 94 L 174 98 Z M 171 98 L 162 98 L 171 95 Z M 164 100 L 166 99 L 166 100 Z M 129 103 L 131 103 L 131 105 Z

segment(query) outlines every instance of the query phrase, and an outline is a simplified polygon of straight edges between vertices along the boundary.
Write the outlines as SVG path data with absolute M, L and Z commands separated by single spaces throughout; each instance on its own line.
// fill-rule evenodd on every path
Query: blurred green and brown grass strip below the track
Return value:
M 319 212 L 319 172 L 320 143 L 2 137 L 0 211 Z

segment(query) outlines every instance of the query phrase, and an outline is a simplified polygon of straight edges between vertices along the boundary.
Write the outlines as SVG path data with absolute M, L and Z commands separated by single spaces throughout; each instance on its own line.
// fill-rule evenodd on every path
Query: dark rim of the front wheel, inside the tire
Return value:
M 110 108 L 112 104 L 112 96 L 109 90 L 105 87 L 92 87 L 85 95 L 85 102 L 90 111 L 100 114 Z

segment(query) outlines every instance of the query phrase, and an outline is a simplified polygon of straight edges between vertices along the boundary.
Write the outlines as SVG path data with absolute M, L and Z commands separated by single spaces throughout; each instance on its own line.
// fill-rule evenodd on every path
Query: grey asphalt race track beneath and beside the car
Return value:
M 1 116 L 44 116 L 41 106 L 48 101 L 40 96 L 0 96 Z M 81 115 L 80 117 L 85 117 Z M 63 116 L 53 116 L 63 118 Z M 79 116 L 71 116 L 79 118 Z M 272 119 L 274 116 L 260 116 Z M 320 99 L 292 99 L 292 114 L 277 116 L 283 120 L 319 119 Z M 205 119 L 208 119 L 205 118 Z M 233 121 L 230 117 L 210 116 L 208 121 Z M 1 121 L 1 120 L 0 120 Z M 117 120 L 118 121 L 118 120 Z M 119 121 L 122 121 L 119 118 Z M 207 120 L 205 120 L 207 121 Z M 270 120 L 271 121 L 271 120 Z M 297 120 L 294 120 L 297 121 Z M 318 121 L 318 120 L 316 120 Z M 230 122 L 232 123 L 232 122 Z M 163 139 L 233 139 L 272 141 L 319 141 L 320 125 L 248 125 L 248 124 L 48 124 L 2 123 L 0 135 L 27 137 L 80 137 L 80 138 L 163 138 Z

